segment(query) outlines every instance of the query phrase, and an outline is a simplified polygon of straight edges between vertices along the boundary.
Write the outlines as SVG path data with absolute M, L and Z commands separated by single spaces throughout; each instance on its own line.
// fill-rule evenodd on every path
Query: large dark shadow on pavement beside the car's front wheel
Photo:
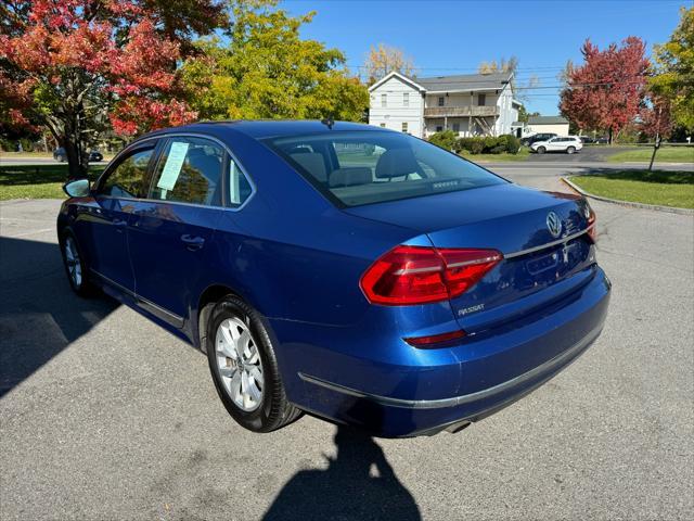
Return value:
M 72 292 L 57 244 L 0 238 L 0 397 L 116 307 Z

